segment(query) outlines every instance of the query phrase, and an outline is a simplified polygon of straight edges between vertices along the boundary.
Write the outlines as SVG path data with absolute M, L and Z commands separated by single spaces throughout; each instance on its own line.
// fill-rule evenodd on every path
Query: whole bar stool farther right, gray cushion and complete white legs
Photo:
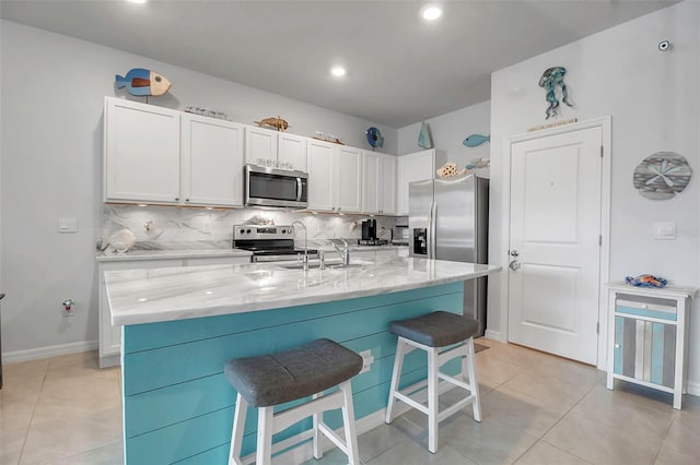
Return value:
M 390 424 L 394 419 L 393 409 L 396 400 L 428 415 L 428 450 L 432 453 L 438 452 L 440 421 L 469 404 L 472 404 L 474 419 L 481 421 L 479 383 L 474 354 L 474 335 L 478 330 L 479 323 L 476 320 L 445 311 L 389 323 L 389 332 L 398 336 L 398 342 L 385 420 Z M 453 347 L 445 348 L 447 346 Z M 428 380 L 399 391 L 404 356 L 417 348 L 428 353 Z M 440 371 L 440 367 L 455 357 L 462 357 L 462 372 L 458 378 Z M 468 374 L 468 379 L 465 379 L 465 373 Z M 439 384 L 442 385 L 440 380 L 466 390 L 469 395 L 443 412 L 439 412 Z M 428 385 L 428 406 L 413 398 L 417 392 L 425 389 L 425 385 Z

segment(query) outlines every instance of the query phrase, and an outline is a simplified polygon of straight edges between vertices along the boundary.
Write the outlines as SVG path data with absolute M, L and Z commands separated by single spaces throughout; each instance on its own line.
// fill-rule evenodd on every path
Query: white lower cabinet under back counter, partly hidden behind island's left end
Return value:
M 100 274 L 100 311 L 97 318 L 97 324 L 100 327 L 100 368 L 116 367 L 120 365 L 121 350 L 121 326 L 113 326 L 112 317 L 109 314 L 109 300 L 107 298 L 107 290 L 105 286 L 106 271 L 223 265 L 249 262 L 250 258 L 247 255 L 97 262 L 97 273 Z

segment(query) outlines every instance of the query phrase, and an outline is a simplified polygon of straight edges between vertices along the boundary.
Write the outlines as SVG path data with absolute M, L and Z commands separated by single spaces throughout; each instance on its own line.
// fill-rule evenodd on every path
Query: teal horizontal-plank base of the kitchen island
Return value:
M 124 327 L 125 460 L 128 465 L 228 463 L 236 393 L 224 362 L 284 350 L 328 337 L 358 353 L 371 350 L 370 371 L 352 380 L 355 419 L 378 426 L 386 407 L 396 336 L 389 321 L 434 310 L 462 313 L 462 282 L 307 306 L 240 312 Z M 457 360 L 445 371 L 456 372 Z M 425 354 L 404 363 L 402 386 L 425 379 Z M 282 405 L 288 408 L 292 403 Z M 340 410 L 326 414 L 341 426 Z M 311 428 L 303 420 L 275 436 L 280 441 Z M 257 410 L 246 420 L 243 454 L 255 451 Z M 362 428 L 359 428 L 362 432 Z M 362 453 L 362 451 L 360 451 Z

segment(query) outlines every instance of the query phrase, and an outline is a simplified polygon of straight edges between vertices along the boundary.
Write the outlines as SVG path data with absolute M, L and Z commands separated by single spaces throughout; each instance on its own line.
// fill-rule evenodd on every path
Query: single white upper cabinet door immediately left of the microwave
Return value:
M 244 126 L 182 116 L 182 187 L 185 204 L 243 206 Z

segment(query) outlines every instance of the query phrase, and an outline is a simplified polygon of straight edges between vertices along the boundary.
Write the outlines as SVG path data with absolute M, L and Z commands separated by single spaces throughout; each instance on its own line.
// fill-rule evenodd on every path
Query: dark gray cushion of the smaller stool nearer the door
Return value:
M 446 311 L 435 311 L 389 323 L 389 332 L 429 347 L 444 347 L 468 339 L 479 331 L 479 322 Z

